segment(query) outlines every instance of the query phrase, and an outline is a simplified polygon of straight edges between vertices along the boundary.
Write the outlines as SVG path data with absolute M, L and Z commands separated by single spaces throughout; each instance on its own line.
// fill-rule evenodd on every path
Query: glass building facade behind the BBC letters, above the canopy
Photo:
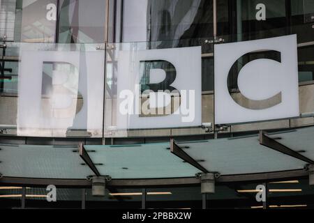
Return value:
M 47 124 L 49 123 L 47 121 L 45 125 L 52 130 L 47 131 L 50 133 L 41 134 L 46 137 L 105 137 L 107 129 L 117 125 L 117 121 L 115 121 L 117 115 L 114 114 L 117 112 L 115 111 L 117 109 L 117 79 L 124 78 L 118 69 L 120 61 L 118 55 L 125 50 L 133 52 L 144 49 L 201 47 L 202 123 L 214 123 L 214 45 L 216 44 L 297 34 L 300 89 L 311 91 L 314 72 L 313 58 L 311 58 L 314 55 L 312 44 L 314 29 L 313 12 L 311 12 L 313 3 L 310 0 L 258 2 L 224 0 L 218 1 L 215 6 L 213 1 L 190 0 L 142 0 L 142 2 L 94 0 L 88 3 L 88 6 L 86 4 L 87 2 L 80 0 L 1 1 L 1 35 L 6 37 L 3 38 L 3 44 L 6 47 L 2 47 L 0 50 L 3 67 L 1 69 L 1 105 L 4 105 L 1 107 L 5 107 L 0 112 L 0 124 L 4 126 L 3 128 L 7 127 L 5 129 L 6 132 L 10 132 L 9 134 L 38 136 L 34 132 L 31 134 L 25 131 L 21 132 L 17 126 L 18 120 L 22 119 L 17 112 L 19 109 L 18 98 L 20 94 L 24 95 L 24 93 L 19 94 L 18 86 L 21 85 L 21 77 L 27 75 L 27 71 L 20 68 L 24 59 L 22 63 L 19 61 L 21 61 L 25 48 L 23 46 L 26 43 L 33 44 L 28 47 L 35 49 L 46 47 L 50 48 L 49 51 L 56 49 L 56 51 L 64 53 L 80 52 L 81 60 L 84 60 L 82 52 L 86 50 L 98 51 L 99 54 L 100 52 L 103 54 L 103 59 L 100 59 L 102 61 L 99 61 L 99 65 L 97 65 L 97 71 L 94 71 L 98 73 L 99 77 L 90 78 L 97 78 L 100 82 L 102 82 L 101 78 L 105 77 L 106 79 L 103 90 L 97 91 L 97 103 L 105 109 L 105 114 L 102 112 L 103 109 L 98 109 L 96 115 L 103 116 L 105 124 L 92 127 L 92 130 L 87 126 L 88 124 L 85 126 L 77 124 L 80 126 L 74 128 L 75 131 L 72 131 L 71 134 L 67 134 L 66 132 L 73 129 L 73 125 L 75 125 L 73 120 L 77 119 L 77 116 L 87 116 L 84 112 L 76 112 L 76 114 L 68 115 L 73 116 L 73 120 L 64 127 L 65 131 L 60 131 L 58 134 L 54 134 L 54 127 Z M 84 63 L 88 63 L 87 60 L 85 59 Z M 56 65 L 50 63 L 50 67 L 52 66 Z M 93 65 L 87 64 L 87 66 Z M 102 66 L 105 67 L 102 68 Z M 52 77 L 52 68 L 45 64 L 43 69 L 50 70 L 50 74 L 45 73 L 45 77 Z M 77 70 L 77 72 L 82 73 L 84 70 Z M 63 70 L 63 73 L 70 75 L 71 71 Z M 46 95 L 47 87 L 45 85 L 49 84 L 49 79 L 43 79 L 42 91 Z M 237 91 L 237 79 L 234 77 L 230 81 L 232 91 Z M 105 100 L 102 99 L 104 89 L 106 89 Z M 56 93 L 50 94 L 55 95 Z M 82 106 L 80 92 L 77 92 L 77 97 L 71 94 L 68 97 L 76 98 L 74 104 L 77 104 L 77 111 L 80 110 L 80 106 Z M 75 109 L 74 104 L 73 109 Z M 308 102 L 305 104 L 301 105 L 302 112 L 311 112 Z M 95 109 L 93 110 L 95 111 Z M 92 113 L 96 114 L 96 111 Z M 61 117 L 59 116 L 59 118 Z M 88 118 L 84 117 L 84 119 Z M 98 119 L 99 123 L 101 119 Z M 31 118 L 29 120 L 31 121 Z M 286 128 L 297 127 L 298 123 L 303 123 L 303 121 L 292 120 L 289 123 L 275 121 L 263 125 L 268 128 Z M 252 128 L 258 130 L 260 126 L 256 124 Z M 62 129 L 63 127 L 56 128 Z M 246 129 L 246 126 L 234 125 L 231 126 L 231 131 L 239 132 L 243 128 Z M 192 130 L 190 128 L 186 130 L 168 128 L 156 130 L 160 133 L 148 135 L 147 133 L 142 134 L 140 130 L 130 129 L 132 128 L 127 125 L 123 129 L 126 132 L 121 134 L 119 131 L 114 131 L 112 137 L 176 136 L 190 134 L 191 131 L 195 134 L 206 134 L 197 125 L 194 125 Z M 112 131 L 109 131 L 109 134 L 111 134 L 110 132 Z

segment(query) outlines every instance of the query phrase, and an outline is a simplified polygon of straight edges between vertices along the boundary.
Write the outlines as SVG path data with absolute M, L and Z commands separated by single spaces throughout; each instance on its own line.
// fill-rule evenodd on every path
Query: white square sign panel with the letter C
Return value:
M 214 52 L 216 124 L 299 116 L 296 35 L 215 45 Z

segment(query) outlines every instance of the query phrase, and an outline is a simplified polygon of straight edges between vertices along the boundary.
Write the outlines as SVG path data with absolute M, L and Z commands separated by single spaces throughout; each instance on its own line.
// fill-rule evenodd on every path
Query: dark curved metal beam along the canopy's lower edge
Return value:
M 308 177 L 308 171 L 297 169 L 291 171 L 277 171 L 260 174 L 241 174 L 227 175 L 216 178 L 216 183 L 234 183 L 246 181 L 270 181 L 287 180 L 292 178 Z M 200 178 L 163 178 L 163 179 L 112 179 L 107 182 L 108 187 L 162 187 L 162 186 L 180 186 L 180 185 L 199 185 Z M 47 187 L 55 185 L 56 187 L 68 188 L 90 188 L 91 180 L 87 179 L 45 179 L 45 178 L 0 178 L 0 185 L 25 186 L 25 187 Z

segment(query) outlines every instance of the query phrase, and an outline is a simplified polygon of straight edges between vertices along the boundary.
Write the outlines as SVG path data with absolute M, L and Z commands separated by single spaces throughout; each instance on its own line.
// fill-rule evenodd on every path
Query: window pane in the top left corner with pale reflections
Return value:
M 54 43 L 57 0 L 1 0 L 0 36 L 7 41 Z

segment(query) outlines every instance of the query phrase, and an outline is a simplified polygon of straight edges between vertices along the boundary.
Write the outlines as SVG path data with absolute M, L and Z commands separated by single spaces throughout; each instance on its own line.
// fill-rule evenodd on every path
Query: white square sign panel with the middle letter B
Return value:
M 117 128 L 202 124 L 201 47 L 119 52 Z

